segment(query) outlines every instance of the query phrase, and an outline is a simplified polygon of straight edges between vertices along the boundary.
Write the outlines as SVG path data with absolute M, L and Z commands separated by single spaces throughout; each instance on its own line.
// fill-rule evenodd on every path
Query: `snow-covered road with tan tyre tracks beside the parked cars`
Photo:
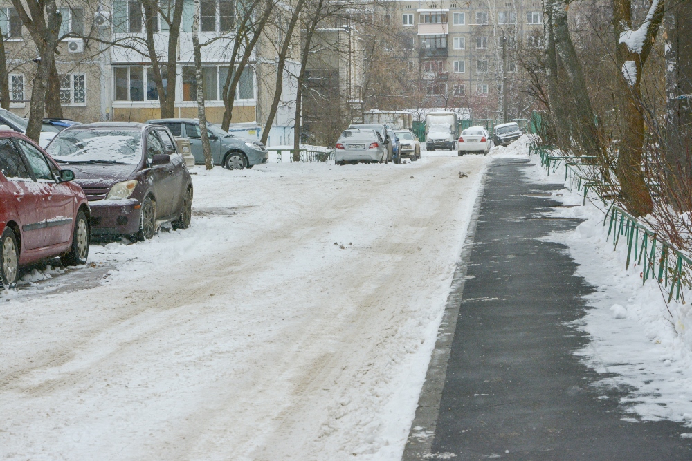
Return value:
M 0 458 L 400 458 L 490 158 L 441 154 L 196 169 L 190 229 L 29 274 Z

